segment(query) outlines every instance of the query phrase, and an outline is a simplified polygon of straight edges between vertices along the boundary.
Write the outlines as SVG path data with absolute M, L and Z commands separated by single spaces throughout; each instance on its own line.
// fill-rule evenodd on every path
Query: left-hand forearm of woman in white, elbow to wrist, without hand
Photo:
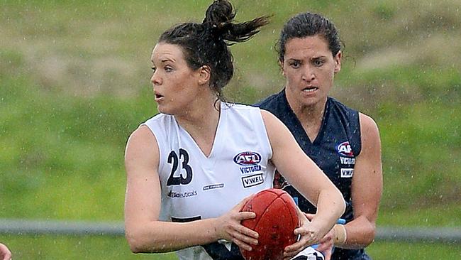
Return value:
M 126 227 L 126 239 L 134 253 L 176 251 L 218 240 L 215 219 L 187 223 L 154 221 Z

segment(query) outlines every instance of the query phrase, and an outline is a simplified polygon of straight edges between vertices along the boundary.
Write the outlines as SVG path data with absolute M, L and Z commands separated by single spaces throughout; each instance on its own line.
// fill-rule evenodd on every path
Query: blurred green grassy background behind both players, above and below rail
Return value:
M 210 2 L 0 1 L 0 219 L 123 220 L 126 139 L 156 113 L 150 52 L 172 24 L 201 21 Z M 461 1 L 233 4 L 240 21 L 274 16 L 231 48 L 231 100 L 279 91 L 273 46 L 282 24 L 301 11 L 323 13 L 345 43 L 332 95 L 371 115 L 381 132 L 377 224 L 461 226 Z M 174 259 L 130 254 L 121 237 L 0 241 L 15 259 Z M 377 242 L 369 251 L 374 259 L 460 259 L 458 246 Z

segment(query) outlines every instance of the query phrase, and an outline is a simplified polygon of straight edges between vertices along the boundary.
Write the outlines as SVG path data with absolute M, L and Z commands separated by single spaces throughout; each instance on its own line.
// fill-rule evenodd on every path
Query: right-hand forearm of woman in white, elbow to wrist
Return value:
M 323 190 L 318 196 L 317 212 L 313 223 L 320 223 L 326 234 L 343 215 L 345 202 L 338 190 Z

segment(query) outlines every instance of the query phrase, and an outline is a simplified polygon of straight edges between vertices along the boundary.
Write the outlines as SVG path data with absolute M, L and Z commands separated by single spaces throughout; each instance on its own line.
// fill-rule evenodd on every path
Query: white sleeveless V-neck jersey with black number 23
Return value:
M 145 125 L 155 135 L 160 150 L 160 220 L 188 222 L 218 217 L 244 197 L 272 188 L 272 148 L 259 108 L 221 102 L 208 157 L 174 116 L 157 114 Z M 179 259 L 212 259 L 203 247 L 182 249 L 177 254 Z

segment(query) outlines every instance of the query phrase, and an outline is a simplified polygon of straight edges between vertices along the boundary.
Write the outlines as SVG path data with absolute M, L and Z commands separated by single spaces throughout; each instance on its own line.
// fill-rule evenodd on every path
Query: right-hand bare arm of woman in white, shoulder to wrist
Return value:
M 289 129 L 270 112 L 261 113 L 272 146 L 272 162 L 291 185 L 318 208 L 311 223 L 318 229 L 318 242 L 343 214 L 343 195 L 301 150 Z

